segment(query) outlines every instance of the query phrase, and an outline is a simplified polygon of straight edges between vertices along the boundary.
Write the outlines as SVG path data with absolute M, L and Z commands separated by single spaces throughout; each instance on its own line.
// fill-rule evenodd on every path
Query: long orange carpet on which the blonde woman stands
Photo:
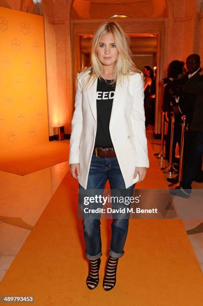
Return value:
M 156 164 L 159 175 L 157 161 L 151 162 L 148 183 Z M 151 188 L 156 188 L 153 181 Z M 68 172 L 3 277 L 0 294 L 33 295 L 37 306 L 203 305 L 203 274 L 180 219 L 131 219 L 116 286 L 104 291 L 110 225 L 111 220 L 101 220 L 100 282 L 89 290 L 82 222 L 77 218 L 77 181 Z

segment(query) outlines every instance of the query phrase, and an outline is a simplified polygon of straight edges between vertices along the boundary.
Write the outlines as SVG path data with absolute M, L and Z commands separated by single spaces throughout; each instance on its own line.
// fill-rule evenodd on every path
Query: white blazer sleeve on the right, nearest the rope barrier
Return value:
M 149 167 L 147 138 L 145 132 L 144 80 L 140 73 L 135 75 L 134 100 L 131 112 L 131 125 L 136 148 L 136 166 Z

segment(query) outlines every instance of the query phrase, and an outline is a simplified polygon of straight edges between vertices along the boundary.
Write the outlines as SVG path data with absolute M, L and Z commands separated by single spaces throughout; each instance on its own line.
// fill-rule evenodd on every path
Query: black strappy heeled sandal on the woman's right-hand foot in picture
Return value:
M 110 256 L 107 262 L 106 271 L 103 280 L 103 288 L 104 286 L 109 287 L 109 288 L 104 288 L 104 290 L 106 291 L 113 289 L 113 287 L 116 284 L 117 264 L 118 264 L 118 258 L 113 258 Z

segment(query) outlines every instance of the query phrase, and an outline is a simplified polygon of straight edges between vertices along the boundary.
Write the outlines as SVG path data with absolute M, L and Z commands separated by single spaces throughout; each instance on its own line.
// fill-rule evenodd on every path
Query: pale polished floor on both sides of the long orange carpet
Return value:
M 159 151 L 160 140 L 153 139 L 150 133 L 148 139 L 153 143 L 154 151 Z M 157 159 L 157 162 L 160 166 L 165 165 L 165 161 L 162 163 Z M 0 171 L 0 279 L 9 269 L 67 171 L 67 161 L 24 176 Z M 167 175 L 162 175 L 166 180 Z M 193 187 L 202 189 L 203 184 L 196 183 Z M 189 217 L 183 218 L 186 230 L 200 226 L 202 222 L 201 218 L 193 217 L 192 209 Z M 203 232 L 199 231 L 190 234 L 189 239 L 203 270 Z

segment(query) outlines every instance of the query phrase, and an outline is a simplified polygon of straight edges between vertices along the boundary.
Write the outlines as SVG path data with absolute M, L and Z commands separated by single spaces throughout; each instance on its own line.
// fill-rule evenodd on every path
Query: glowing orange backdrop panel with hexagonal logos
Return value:
M 0 150 L 48 141 L 43 17 L 0 7 Z

